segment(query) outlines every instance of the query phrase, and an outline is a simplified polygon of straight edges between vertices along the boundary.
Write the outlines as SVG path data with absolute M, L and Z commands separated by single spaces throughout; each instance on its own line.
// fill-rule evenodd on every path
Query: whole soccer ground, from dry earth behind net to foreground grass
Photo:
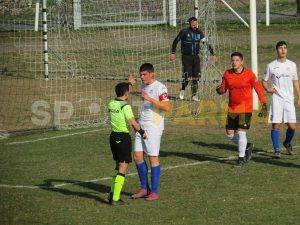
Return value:
M 10 5 L 10 1 L 0 2 Z M 300 223 L 299 124 L 292 142 L 295 155 L 287 155 L 282 149 L 282 158 L 274 159 L 270 125 L 265 118 L 258 118 L 255 111 L 247 132 L 248 141 L 255 146 L 252 159 L 242 168 L 235 166 L 237 146 L 228 140 L 224 129 L 228 96 L 218 96 L 215 88 L 225 68 L 230 66 L 233 51 L 242 52 L 245 66 L 251 66 L 250 33 L 221 1 L 216 1 L 220 5 L 215 11 L 217 30 L 213 33 L 217 69 L 209 67 L 207 74 L 203 74 L 199 83 L 200 102 L 191 100 L 190 87 L 185 100 L 178 98 L 179 46 L 177 59 L 168 60 L 173 38 L 187 25 L 184 22 L 188 13 L 194 15 L 194 1 L 177 0 L 176 28 L 159 24 L 78 30 L 72 24 L 60 24 L 64 19 L 70 22 L 65 10 L 71 10 L 73 15 L 74 1 L 48 1 L 52 76 L 48 81 L 44 79 L 42 21 L 39 32 L 32 27 L 35 1 L 11 2 L 16 5 L 11 6 L 15 9 L 11 12 L 1 8 L 0 3 L 0 225 Z M 17 2 L 32 2 L 32 6 L 23 10 Z M 66 8 L 55 6 L 61 2 Z M 106 12 L 109 22 L 113 21 L 111 15 L 123 15 L 122 11 L 126 13 L 135 1 L 77 2 L 89 6 L 90 13 L 98 14 L 101 7 L 107 7 L 112 12 Z M 140 2 L 159 5 L 169 1 Z M 250 1 L 228 2 L 234 3 L 232 6 L 248 21 Z M 270 2 L 272 20 L 271 26 L 266 27 L 265 1 L 257 1 L 258 79 L 262 79 L 267 63 L 276 58 L 275 44 L 280 40 L 287 41 L 288 58 L 297 64 L 300 78 L 300 17 L 294 16 L 295 1 Z M 151 8 L 155 9 L 157 4 Z M 146 8 L 147 4 L 142 6 Z M 150 13 L 149 18 L 156 13 Z M 132 12 L 126 15 L 129 21 L 137 16 Z M 87 22 L 97 21 L 89 18 Z M 205 23 L 200 24 L 204 28 Z M 139 185 L 135 165 L 131 163 L 122 192 L 122 199 L 129 205 L 114 207 L 107 201 L 114 161 L 106 105 L 114 96 L 114 86 L 127 80 L 129 73 L 138 75 L 136 71 L 144 61 L 154 64 L 155 76 L 166 84 L 173 107 L 166 114 L 160 148 L 159 200 L 130 198 Z M 140 80 L 137 83 L 129 98 L 136 117 Z M 267 98 L 269 108 L 270 95 Z M 38 114 L 33 106 L 40 101 L 45 111 Z M 74 106 L 70 118 L 60 118 L 67 110 L 59 103 Z M 296 114 L 299 122 L 299 108 Z M 34 123 L 43 118 L 49 121 Z M 285 131 L 282 125 L 280 143 Z

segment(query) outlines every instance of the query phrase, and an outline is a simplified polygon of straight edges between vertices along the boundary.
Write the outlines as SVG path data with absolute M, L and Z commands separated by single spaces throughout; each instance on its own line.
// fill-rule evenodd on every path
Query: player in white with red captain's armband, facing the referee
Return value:
M 171 104 L 166 86 L 154 78 L 152 64 L 141 65 L 140 77 L 142 81 L 142 104 L 139 124 L 145 130 L 147 139 L 143 139 L 139 133 L 136 133 L 133 158 L 139 174 L 140 187 L 132 195 L 132 198 L 147 196 L 147 200 L 157 200 L 160 179 L 158 156 L 164 130 L 164 112 L 171 110 Z M 130 77 L 129 82 L 134 84 L 134 77 Z M 148 185 L 148 166 L 144 160 L 144 155 L 149 157 L 151 164 L 151 190 Z

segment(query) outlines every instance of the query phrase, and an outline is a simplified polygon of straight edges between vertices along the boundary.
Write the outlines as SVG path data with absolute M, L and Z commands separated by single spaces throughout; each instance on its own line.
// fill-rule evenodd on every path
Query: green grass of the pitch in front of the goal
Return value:
M 223 128 L 184 124 L 168 123 L 161 146 L 162 167 L 199 164 L 163 170 L 157 202 L 130 200 L 138 178 L 128 176 L 123 195 L 128 207 L 106 204 L 110 180 L 74 184 L 110 176 L 114 164 L 107 130 L 17 145 L 8 144 L 73 131 L 0 140 L 1 184 L 49 187 L 0 187 L 0 223 L 297 224 L 299 135 L 294 140 L 298 154 L 283 154 L 281 160 L 274 160 L 268 125 L 254 123 L 248 139 L 255 143 L 256 154 L 239 169 L 234 161 L 222 160 L 237 154 Z M 136 172 L 133 164 L 129 172 Z M 67 185 L 49 186 L 62 183 Z

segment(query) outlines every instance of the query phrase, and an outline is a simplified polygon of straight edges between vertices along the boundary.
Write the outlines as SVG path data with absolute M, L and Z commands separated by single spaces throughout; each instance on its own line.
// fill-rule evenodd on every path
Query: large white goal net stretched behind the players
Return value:
M 4 1 L 1 6 L 0 103 L 7 107 L 1 107 L 0 131 L 105 125 L 106 104 L 114 96 L 114 86 L 126 81 L 130 73 L 138 77 L 144 62 L 154 65 L 156 78 L 170 93 L 173 111 L 167 120 L 194 124 L 201 118 L 207 122 L 226 107 L 215 87 L 229 65 L 230 53 L 240 46 L 249 52 L 247 29 L 242 29 L 246 38 L 217 29 L 220 3 L 215 0 L 37 2 L 38 31 L 34 31 L 36 1 Z M 225 9 L 221 7 L 221 11 Z M 180 46 L 176 60 L 168 60 L 173 39 L 188 27 L 191 16 L 198 17 L 200 29 L 219 59 L 211 60 L 202 45 L 199 102 L 192 101 L 189 87 L 185 99 L 178 98 Z M 138 94 L 133 93 L 130 101 L 137 110 Z

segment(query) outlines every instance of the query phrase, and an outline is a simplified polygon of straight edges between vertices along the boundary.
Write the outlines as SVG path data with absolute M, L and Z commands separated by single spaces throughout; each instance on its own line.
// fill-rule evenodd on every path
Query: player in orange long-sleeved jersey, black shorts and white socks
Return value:
M 221 85 L 216 89 L 222 95 L 229 92 L 226 133 L 230 140 L 238 144 L 238 166 L 250 160 L 253 144 L 247 142 L 246 130 L 250 128 L 253 111 L 253 88 L 262 104 L 262 114 L 266 117 L 266 97 L 261 84 L 254 73 L 243 66 L 243 55 L 240 52 L 231 54 L 232 68 L 226 70 Z

